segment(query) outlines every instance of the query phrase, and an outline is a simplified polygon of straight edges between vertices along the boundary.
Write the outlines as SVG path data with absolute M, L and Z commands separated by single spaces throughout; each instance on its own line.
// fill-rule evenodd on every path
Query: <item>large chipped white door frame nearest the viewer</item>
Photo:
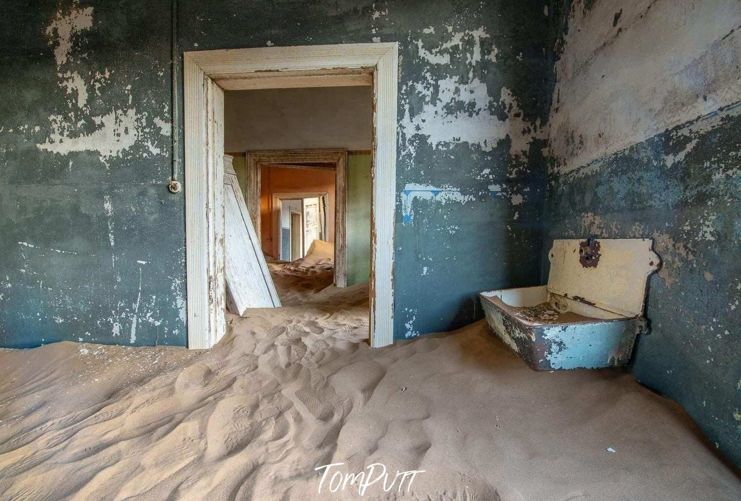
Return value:
M 398 65 L 396 42 L 183 54 L 188 348 L 210 348 L 226 328 L 223 89 L 335 87 L 369 82 L 373 84 L 370 342 L 373 347 L 393 342 Z

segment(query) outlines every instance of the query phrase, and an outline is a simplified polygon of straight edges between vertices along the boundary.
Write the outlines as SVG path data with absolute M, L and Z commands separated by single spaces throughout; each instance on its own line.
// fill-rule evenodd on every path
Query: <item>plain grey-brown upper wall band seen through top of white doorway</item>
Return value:
M 370 150 L 371 87 L 227 91 L 226 151 Z

